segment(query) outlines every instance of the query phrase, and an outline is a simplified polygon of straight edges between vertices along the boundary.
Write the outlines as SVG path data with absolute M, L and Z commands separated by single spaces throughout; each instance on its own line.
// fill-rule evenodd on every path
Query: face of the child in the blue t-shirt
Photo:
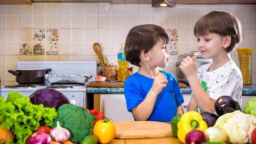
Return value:
M 148 52 L 150 54 L 150 61 L 152 66 L 159 66 L 165 68 L 169 62 L 171 50 L 167 47 L 164 40 L 159 40 L 155 46 Z

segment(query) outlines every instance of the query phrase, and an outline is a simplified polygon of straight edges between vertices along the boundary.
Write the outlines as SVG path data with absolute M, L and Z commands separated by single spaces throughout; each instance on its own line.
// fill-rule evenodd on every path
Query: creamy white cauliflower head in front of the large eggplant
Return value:
M 229 143 L 252 143 L 251 134 L 256 128 L 256 116 L 244 114 L 240 110 L 236 110 L 220 116 L 215 126 L 226 133 L 227 142 Z

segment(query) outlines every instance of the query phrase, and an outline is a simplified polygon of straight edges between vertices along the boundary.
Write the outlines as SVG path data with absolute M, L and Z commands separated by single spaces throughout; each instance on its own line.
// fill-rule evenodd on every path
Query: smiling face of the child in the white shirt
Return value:
M 197 48 L 202 53 L 203 58 L 213 58 L 221 56 L 225 49 L 223 44 L 225 42 L 224 37 L 212 33 L 207 36 L 196 36 Z

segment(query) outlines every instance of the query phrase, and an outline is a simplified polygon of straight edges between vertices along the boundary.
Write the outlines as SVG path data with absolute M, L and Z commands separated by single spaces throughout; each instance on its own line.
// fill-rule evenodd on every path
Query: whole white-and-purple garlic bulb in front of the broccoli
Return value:
M 56 128 L 53 128 L 50 133 L 50 137 L 55 142 L 66 142 L 70 138 L 70 132 L 66 128 L 60 126 L 60 122 L 57 122 Z

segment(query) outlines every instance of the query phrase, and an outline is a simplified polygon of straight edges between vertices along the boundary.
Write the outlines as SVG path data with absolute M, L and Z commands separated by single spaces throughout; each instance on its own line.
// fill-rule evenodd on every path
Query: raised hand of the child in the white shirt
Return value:
M 196 74 L 196 64 L 190 56 L 184 58 L 184 60 L 180 63 L 180 69 L 186 77 Z

